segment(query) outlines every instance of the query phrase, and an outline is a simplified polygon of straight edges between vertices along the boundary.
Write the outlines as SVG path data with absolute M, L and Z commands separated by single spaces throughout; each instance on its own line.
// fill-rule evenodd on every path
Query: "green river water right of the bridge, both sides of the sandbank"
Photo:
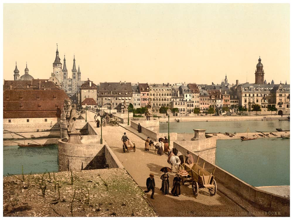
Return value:
M 203 121 L 172 122 L 170 132 L 251 132 L 290 130 L 289 121 Z M 160 123 L 160 133 L 168 132 L 168 123 Z M 216 165 L 253 186 L 290 185 L 290 141 L 282 138 L 259 138 L 251 141 L 218 140 Z

